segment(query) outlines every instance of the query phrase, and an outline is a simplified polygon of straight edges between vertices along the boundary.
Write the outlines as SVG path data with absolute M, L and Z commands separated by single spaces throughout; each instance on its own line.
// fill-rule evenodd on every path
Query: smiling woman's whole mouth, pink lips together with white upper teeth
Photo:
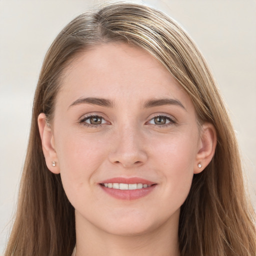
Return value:
M 107 194 L 116 199 L 135 200 L 148 195 L 157 183 L 141 178 L 112 178 L 99 183 Z

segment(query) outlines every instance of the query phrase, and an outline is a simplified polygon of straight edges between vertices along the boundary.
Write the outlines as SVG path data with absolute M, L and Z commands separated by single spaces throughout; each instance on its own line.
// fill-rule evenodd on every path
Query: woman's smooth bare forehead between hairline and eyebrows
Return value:
M 167 69 L 145 50 L 127 43 L 105 43 L 80 53 L 64 71 L 59 92 L 61 98 L 79 97 L 110 100 L 128 97 L 179 98 L 184 106 L 189 96 Z

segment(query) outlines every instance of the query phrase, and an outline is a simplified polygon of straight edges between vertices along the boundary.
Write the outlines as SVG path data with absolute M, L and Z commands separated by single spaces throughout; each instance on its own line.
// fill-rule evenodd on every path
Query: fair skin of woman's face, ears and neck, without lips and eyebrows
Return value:
M 86 97 L 112 106 L 72 105 Z M 162 98 L 183 107 L 144 107 Z M 101 124 L 90 124 L 89 115 L 102 117 Z M 156 59 L 125 43 L 81 53 L 65 70 L 52 122 L 41 113 L 38 126 L 46 164 L 60 173 L 75 208 L 76 256 L 179 255 L 180 206 L 193 174 L 211 160 L 216 134 L 209 123 L 198 128 L 190 97 Z M 144 197 L 120 200 L 99 184 L 113 177 L 156 185 Z

